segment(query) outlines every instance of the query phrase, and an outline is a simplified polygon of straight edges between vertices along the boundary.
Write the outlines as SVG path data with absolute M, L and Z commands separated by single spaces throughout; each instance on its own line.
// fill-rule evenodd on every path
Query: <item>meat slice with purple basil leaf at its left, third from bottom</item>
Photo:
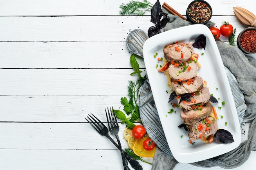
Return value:
M 177 102 L 180 104 L 180 107 L 183 107 L 186 110 L 191 110 L 192 106 L 198 103 L 204 104 L 209 101 L 211 94 L 208 87 L 203 87 L 200 92 L 195 92 L 190 95 L 189 102 L 180 101 L 182 98 L 177 97 Z

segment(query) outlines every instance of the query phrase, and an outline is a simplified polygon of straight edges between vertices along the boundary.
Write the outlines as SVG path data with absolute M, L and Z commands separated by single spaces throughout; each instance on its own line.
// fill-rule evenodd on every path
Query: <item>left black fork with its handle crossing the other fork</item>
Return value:
M 96 116 L 94 116 L 91 113 L 85 119 L 92 125 L 92 127 L 99 134 L 101 134 L 102 136 L 106 136 L 121 151 L 121 148 L 119 147 L 119 145 L 108 134 L 108 128 Z M 126 152 L 124 152 L 124 155 L 125 155 L 126 159 L 130 162 L 130 165 L 132 166 L 132 168 L 134 168 L 135 170 L 142 170 L 142 166 L 139 164 L 138 161 L 133 159 Z

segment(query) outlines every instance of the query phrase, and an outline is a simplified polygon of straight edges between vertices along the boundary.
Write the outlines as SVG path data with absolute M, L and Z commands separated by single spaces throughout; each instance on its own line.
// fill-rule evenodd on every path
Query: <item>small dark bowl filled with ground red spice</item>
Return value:
M 256 28 L 247 27 L 237 37 L 237 45 L 245 54 L 256 54 Z

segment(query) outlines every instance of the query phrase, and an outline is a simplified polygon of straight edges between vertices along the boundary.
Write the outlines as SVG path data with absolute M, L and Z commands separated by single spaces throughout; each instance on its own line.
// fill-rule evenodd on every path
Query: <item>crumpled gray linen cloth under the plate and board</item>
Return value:
M 190 24 L 190 22 L 182 20 L 180 17 L 169 14 L 168 23 L 163 28 L 163 31 Z M 213 25 L 213 22 L 208 23 L 208 26 L 211 25 Z M 216 41 L 216 43 L 224 65 L 234 74 L 238 86 L 244 94 L 247 110 L 244 111 L 243 116 L 247 120 L 251 120 L 252 124 L 249 127 L 248 140 L 242 142 L 238 148 L 218 157 L 192 164 L 204 168 L 220 166 L 222 168 L 231 169 L 242 165 L 248 159 L 251 151 L 256 151 L 256 59 L 246 57 L 243 52 L 234 46 L 220 41 Z M 143 98 L 143 94 L 141 98 Z M 153 99 L 149 98 L 148 100 Z M 160 147 L 164 148 L 162 146 Z M 153 159 L 152 170 L 172 170 L 178 162 L 173 158 L 170 151 L 161 150 L 159 148 L 157 148 Z

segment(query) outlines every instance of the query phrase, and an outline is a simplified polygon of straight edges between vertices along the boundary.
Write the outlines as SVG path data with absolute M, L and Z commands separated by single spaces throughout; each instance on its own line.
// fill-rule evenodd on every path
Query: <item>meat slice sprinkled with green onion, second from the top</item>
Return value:
M 179 66 L 175 64 L 171 64 L 168 68 L 168 72 L 171 78 L 177 81 L 187 81 L 196 76 L 198 69 L 199 69 L 199 63 L 192 61 L 192 62 L 180 63 Z

